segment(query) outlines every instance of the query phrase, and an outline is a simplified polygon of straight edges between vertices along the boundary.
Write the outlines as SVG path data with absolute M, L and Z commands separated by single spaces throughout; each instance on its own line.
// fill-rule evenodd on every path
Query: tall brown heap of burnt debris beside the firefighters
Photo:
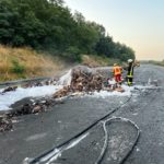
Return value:
M 98 70 L 84 66 L 75 67 L 66 75 L 66 79 L 62 79 L 61 84 L 65 86 L 54 94 L 54 98 L 63 97 L 73 93 L 92 94 L 95 91 L 99 92 L 103 90 L 124 92 L 124 89 L 118 86 L 116 82 L 110 83 L 112 81 L 107 79 L 109 74 L 109 69 Z M 71 79 L 68 78 L 69 75 Z

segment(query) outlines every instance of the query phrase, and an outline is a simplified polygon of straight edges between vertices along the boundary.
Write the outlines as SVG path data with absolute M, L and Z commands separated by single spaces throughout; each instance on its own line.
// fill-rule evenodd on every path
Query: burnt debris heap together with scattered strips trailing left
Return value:
M 49 106 L 62 104 L 61 97 L 81 94 L 92 94 L 93 92 L 104 91 L 118 91 L 124 92 L 121 86 L 117 86 L 116 82 L 108 80 L 108 71 L 99 71 L 91 69 L 89 67 L 79 66 L 70 70 L 66 75 L 61 77 L 60 80 L 50 79 L 45 81 L 38 81 L 35 83 L 28 82 L 23 84 L 22 87 L 44 86 L 44 85 L 63 85 L 62 89 L 57 91 L 51 97 L 39 97 L 39 98 L 24 98 L 13 104 L 11 109 L 5 115 L 0 115 L 0 131 L 11 130 L 13 120 L 16 116 L 38 114 L 46 112 Z M 104 74 L 103 74 L 104 73 Z M 62 84 L 61 84 L 62 83 Z M 15 91 L 17 86 L 9 86 L 2 91 L 2 93 Z

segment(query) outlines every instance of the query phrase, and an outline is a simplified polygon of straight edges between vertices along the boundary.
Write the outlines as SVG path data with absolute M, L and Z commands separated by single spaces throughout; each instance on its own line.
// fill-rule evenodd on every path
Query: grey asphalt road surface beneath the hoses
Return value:
M 139 141 L 125 164 L 164 164 L 164 68 L 141 66 L 136 69 L 134 81 L 136 85 L 147 86 L 149 82 L 157 86 L 136 90 L 126 104 L 129 97 L 77 97 L 66 99 L 46 113 L 19 117 L 13 131 L 0 133 L 0 164 L 21 164 L 25 157 L 36 157 L 120 105 L 110 117 L 130 119 L 141 131 Z M 116 139 L 121 144 L 115 144 L 115 150 L 109 145 L 102 163 L 117 164 L 131 147 L 129 143 L 132 143 L 136 131 L 125 122 L 109 125 L 107 131 L 110 133 L 110 145 L 116 143 Z M 94 163 L 103 143 L 104 132 L 99 124 L 79 144 L 65 151 L 57 163 Z M 125 145 L 124 149 L 120 145 Z

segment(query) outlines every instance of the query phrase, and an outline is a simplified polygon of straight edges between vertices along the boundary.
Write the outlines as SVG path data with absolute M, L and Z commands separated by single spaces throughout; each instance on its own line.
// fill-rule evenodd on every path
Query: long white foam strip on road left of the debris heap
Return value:
M 16 91 L 0 94 L 0 110 L 11 109 L 10 105 L 25 97 L 39 97 L 52 95 L 61 87 L 61 85 L 45 85 L 28 89 L 17 87 Z M 0 90 L 0 93 L 3 90 Z

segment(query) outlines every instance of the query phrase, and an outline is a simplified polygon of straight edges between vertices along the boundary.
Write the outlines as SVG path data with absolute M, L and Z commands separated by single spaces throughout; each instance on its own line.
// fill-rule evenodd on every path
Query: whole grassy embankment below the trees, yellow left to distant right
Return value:
M 87 67 L 107 67 L 120 63 L 118 59 L 105 56 L 81 55 L 80 65 Z M 37 77 L 52 77 L 62 72 L 66 68 L 78 63 L 66 62 L 60 57 L 50 56 L 46 52 L 22 47 L 12 48 L 0 45 L 0 81 L 11 81 L 17 79 L 28 79 Z

